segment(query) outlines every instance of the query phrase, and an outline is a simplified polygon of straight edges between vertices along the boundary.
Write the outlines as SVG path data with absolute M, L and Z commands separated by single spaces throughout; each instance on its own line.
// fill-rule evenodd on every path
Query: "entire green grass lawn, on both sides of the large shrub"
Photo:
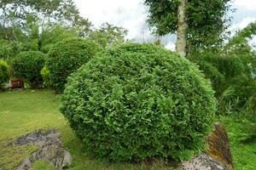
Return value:
M 73 156 L 73 165 L 68 169 L 98 170 L 98 169 L 173 169 L 161 164 L 154 167 L 133 165 L 129 163 L 110 164 L 106 161 L 92 159 L 86 156 L 79 139 L 68 127 L 66 120 L 58 110 L 60 96 L 50 90 L 18 90 L 0 93 L 0 169 L 8 170 L 15 167 L 26 156 L 37 150 L 35 146 L 15 146 L 13 141 L 20 135 L 31 133 L 36 129 L 47 130 L 56 128 L 61 132 L 64 146 Z M 242 143 L 248 130 L 244 125 L 253 124 L 246 119 L 222 117 L 230 135 L 230 144 L 236 169 L 256 169 L 256 142 Z M 254 124 L 255 125 L 255 124 Z M 256 125 L 255 125 L 256 126 Z M 47 162 L 38 161 L 33 170 L 53 170 Z

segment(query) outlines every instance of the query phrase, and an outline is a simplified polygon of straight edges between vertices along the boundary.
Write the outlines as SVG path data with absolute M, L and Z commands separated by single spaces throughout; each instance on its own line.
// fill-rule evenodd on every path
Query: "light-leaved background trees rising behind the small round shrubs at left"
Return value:
M 79 14 L 73 0 L 3 0 L 0 3 L 0 58 L 21 51 L 48 53 L 55 42 L 85 37 L 91 23 Z

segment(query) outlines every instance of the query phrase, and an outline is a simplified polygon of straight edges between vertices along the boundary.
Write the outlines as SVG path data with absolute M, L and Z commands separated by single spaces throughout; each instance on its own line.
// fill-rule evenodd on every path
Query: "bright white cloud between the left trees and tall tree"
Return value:
M 95 26 L 108 22 L 128 30 L 128 38 L 140 36 L 147 18 L 143 0 L 74 0 L 80 13 Z

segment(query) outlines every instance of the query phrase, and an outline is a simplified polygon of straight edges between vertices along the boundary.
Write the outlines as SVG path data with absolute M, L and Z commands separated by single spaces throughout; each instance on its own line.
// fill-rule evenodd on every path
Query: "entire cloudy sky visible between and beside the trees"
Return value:
M 128 31 L 127 38 L 137 42 L 153 41 L 154 37 L 148 29 L 148 9 L 143 0 L 74 0 L 80 13 L 88 18 L 96 27 L 108 22 L 115 26 L 122 26 Z M 246 27 L 256 20 L 256 0 L 233 0 L 236 8 L 230 30 L 236 31 Z M 175 36 L 163 37 L 166 48 L 175 48 Z M 254 37 L 253 42 L 256 42 Z

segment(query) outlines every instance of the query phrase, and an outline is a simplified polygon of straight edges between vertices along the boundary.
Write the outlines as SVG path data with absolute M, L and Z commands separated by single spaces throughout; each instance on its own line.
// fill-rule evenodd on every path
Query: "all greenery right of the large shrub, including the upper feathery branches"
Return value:
M 253 115 L 256 109 L 256 52 L 248 44 L 255 34 L 256 23 L 252 23 L 238 31 L 218 52 L 204 52 L 191 58 L 212 80 L 220 114 Z

